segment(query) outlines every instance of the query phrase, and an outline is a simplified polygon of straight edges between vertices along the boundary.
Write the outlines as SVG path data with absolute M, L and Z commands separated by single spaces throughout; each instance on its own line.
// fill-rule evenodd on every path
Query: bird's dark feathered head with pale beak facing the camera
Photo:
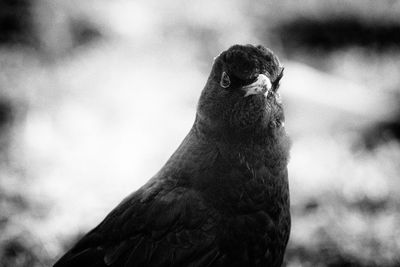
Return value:
M 214 60 L 202 91 L 197 120 L 231 133 L 283 125 L 279 81 L 283 67 L 263 46 L 234 45 Z

